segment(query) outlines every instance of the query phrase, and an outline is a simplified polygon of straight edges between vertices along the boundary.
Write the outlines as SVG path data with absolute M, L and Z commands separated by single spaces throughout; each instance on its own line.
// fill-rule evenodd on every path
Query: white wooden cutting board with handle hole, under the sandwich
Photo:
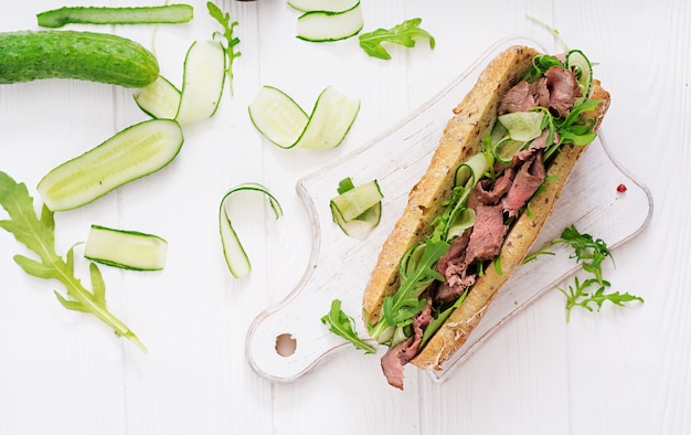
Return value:
M 333 299 L 341 299 L 343 310 L 355 319 L 360 336 L 366 337 L 360 316 L 362 290 L 380 247 L 405 206 L 408 191 L 427 168 L 451 108 L 472 87 L 488 61 L 512 44 L 544 52 L 523 39 L 497 44 L 468 72 L 391 130 L 344 160 L 298 182 L 297 191 L 312 223 L 310 266 L 288 297 L 257 316 L 247 332 L 246 357 L 258 374 L 277 382 L 295 381 L 337 351 L 357 351 L 329 332 L 321 317 L 329 311 Z M 331 220 L 329 201 L 346 177 L 351 177 L 355 184 L 376 179 L 385 197 L 382 222 L 365 241 L 347 237 Z M 626 192 L 617 190 L 619 184 L 627 188 Z M 535 248 L 557 237 L 571 224 L 615 247 L 635 236 L 651 212 L 648 190 L 617 166 L 600 131 L 565 185 Z M 447 379 L 497 328 L 574 273 L 576 264 L 567 253 L 553 251 L 556 256 L 542 256 L 522 266 L 502 287 L 465 346 L 443 370 L 430 371 L 435 381 Z M 277 350 L 279 337 L 295 340 L 293 353 Z M 380 353 L 384 351 L 382 347 Z

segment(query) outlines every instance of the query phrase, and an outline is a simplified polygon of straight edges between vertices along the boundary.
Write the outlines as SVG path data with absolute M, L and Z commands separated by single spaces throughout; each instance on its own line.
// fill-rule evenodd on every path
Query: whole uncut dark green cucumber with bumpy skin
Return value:
M 109 33 L 21 31 L 0 33 L 0 84 L 76 78 L 140 88 L 159 75 L 156 56 Z

